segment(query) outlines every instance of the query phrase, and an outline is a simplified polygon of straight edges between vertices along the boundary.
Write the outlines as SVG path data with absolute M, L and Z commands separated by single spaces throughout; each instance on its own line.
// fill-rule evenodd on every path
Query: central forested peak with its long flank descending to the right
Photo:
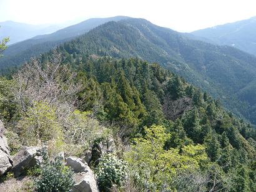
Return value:
M 108 22 L 61 49 L 74 55 L 134 56 L 159 62 L 255 123 L 256 57 L 238 49 L 194 41 L 144 19 Z

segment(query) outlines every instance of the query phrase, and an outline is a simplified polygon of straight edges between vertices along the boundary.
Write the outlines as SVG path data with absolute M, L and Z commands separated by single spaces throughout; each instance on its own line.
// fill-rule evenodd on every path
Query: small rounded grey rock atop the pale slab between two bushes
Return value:
M 69 156 L 66 159 L 66 164 L 67 166 L 70 166 L 76 173 L 85 172 L 87 171 L 87 168 L 89 168 L 84 160 L 81 158 L 76 158 L 75 156 Z

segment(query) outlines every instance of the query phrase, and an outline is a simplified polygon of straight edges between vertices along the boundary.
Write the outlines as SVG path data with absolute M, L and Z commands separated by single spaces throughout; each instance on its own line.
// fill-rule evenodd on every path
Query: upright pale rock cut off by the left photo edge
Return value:
M 12 167 L 7 139 L 4 137 L 4 124 L 0 120 L 0 176 L 9 171 Z

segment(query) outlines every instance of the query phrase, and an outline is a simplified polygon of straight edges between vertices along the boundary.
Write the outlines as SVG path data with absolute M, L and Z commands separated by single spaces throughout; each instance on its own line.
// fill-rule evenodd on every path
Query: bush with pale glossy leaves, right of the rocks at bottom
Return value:
M 96 175 L 101 191 L 109 191 L 112 185 L 121 185 L 126 178 L 127 163 L 114 154 L 106 154 L 100 158 Z

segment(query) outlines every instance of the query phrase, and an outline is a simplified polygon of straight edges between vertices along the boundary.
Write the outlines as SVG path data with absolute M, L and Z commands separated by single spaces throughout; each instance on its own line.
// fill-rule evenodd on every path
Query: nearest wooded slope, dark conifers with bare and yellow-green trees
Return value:
M 111 158 L 103 168 L 90 163 L 99 170 L 101 191 L 114 184 L 137 191 L 256 189 L 255 129 L 159 64 L 61 47 L 0 85 L 11 153 L 44 143 L 51 154 L 82 156 L 114 135 L 114 160 L 124 161 Z M 130 147 L 123 146 L 127 139 Z M 126 165 L 126 177 L 118 175 Z

